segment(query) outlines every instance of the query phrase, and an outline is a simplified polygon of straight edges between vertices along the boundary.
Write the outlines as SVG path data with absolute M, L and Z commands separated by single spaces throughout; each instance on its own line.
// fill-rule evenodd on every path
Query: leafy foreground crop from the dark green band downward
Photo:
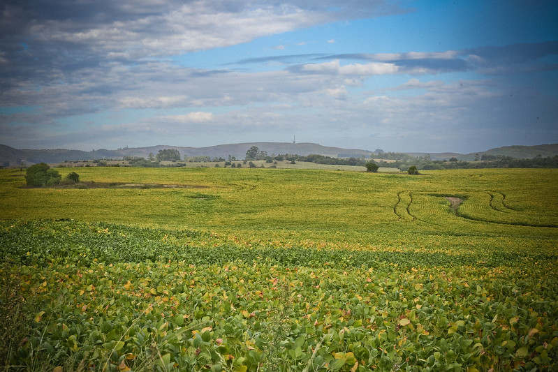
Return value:
M 506 371 L 558 360 L 553 256 L 430 262 L 75 221 L 6 221 L 0 239 L 3 284 L 31 320 L 8 364 L 26 369 Z

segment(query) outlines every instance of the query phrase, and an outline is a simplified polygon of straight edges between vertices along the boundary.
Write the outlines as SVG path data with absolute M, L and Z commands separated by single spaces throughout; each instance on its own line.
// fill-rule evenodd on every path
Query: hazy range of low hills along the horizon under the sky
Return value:
M 91 159 L 113 158 L 118 159 L 124 156 L 140 156 L 147 158 L 149 154 L 157 154 L 161 149 L 177 149 L 180 156 L 210 156 L 210 158 L 228 158 L 234 156 L 237 159 L 243 159 L 246 151 L 256 146 L 260 151 L 267 151 L 267 154 L 298 154 L 307 156 L 309 154 L 318 154 L 323 156 L 331 156 L 332 158 L 360 158 L 365 156 L 369 158 L 372 151 L 362 149 L 344 149 L 341 147 L 328 147 L 316 143 L 289 143 L 289 142 L 247 142 L 236 144 L 219 144 L 210 147 L 180 147 L 180 146 L 151 146 L 151 147 L 134 147 L 117 150 L 98 149 L 94 151 L 80 151 L 68 149 L 44 149 L 44 150 L 20 150 L 14 149 L 0 144 L 0 165 L 3 167 L 16 167 L 24 162 L 27 165 L 34 163 L 61 163 L 64 161 L 82 161 Z M 476 154 L 483 156 L 488 155 L 504 155 L 513 158 L 534 158 L 538 155 L 543 157 L 552 157 L 558 155 L 558 144 L 540 144 L 537 146 L 507 146 L 490 149 L 487 151 L 471 154 L 459 154 L 455 152 L 444 153 L 407 153 L 412 156 L 429 155 L 432 160 L 448 160 L 449 158 L 457 158 L 462 161 L 473 161 Z

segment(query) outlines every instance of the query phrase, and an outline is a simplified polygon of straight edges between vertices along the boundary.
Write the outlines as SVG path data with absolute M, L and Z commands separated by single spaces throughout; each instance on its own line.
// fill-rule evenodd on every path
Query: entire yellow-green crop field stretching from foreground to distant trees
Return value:
M 5 371 L 556 371 L 558 170 L 0 170 Z

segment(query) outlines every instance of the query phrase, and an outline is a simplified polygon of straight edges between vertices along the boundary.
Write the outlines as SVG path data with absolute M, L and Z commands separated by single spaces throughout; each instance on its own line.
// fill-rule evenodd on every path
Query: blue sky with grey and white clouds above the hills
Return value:
M 558 1 L 3 0 L 0 144 L 558 143 Z

